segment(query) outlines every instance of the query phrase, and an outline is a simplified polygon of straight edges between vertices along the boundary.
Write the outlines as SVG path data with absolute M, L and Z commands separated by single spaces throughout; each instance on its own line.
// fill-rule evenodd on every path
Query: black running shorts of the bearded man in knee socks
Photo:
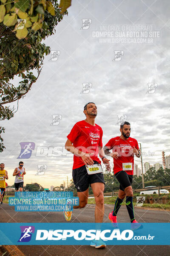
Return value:
M 119 181 L 119 189 L 123 190 L 128 186 L 131 186 L 133 181 L 133 175 L 127 174 L 125 171 L 120 171 L 115 174 L 116 179 Z

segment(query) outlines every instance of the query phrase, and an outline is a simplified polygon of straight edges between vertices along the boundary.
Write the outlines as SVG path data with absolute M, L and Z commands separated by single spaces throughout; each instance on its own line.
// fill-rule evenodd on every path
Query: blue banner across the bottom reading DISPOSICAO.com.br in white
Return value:
M 2 245 L 170 245 L 170 223 L 0 223 Z

